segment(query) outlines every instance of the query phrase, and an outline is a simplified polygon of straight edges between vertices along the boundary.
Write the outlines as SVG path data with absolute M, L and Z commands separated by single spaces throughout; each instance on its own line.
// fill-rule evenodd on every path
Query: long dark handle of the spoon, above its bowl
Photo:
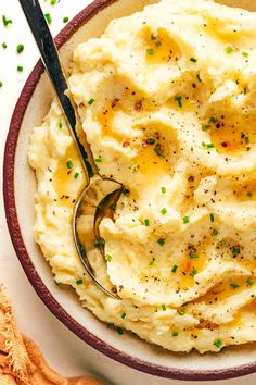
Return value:
M 20 0 L 20 3 L 41 53 L 42 62 L 56 92 L 62 110 L 67 122 L 69 123 L 68 126 L 73 138 L 75 139 L 80 151 L 84 165 L 86 166 L 89 177 L 92 177 L 98 173 L 98 170 L 94 164 L 89 145 L 87 144 L 87 149 L 85 150 L 78 138 L 76 126 L 79 117 L 75 112 L 71 99 L 65 95 L 65 91 L 68 88 L 66 78 L 62 70 L 59 53 L 42 13 L 41 7 L 38 0 Z

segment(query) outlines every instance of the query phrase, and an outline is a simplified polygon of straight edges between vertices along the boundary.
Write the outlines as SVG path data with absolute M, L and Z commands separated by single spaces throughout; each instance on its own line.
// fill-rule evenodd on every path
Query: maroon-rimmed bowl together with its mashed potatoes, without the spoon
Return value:
M 243 0 L 94 1 L 56 38 L 100 173 L 125 186 L 100 226 L 106 261 L 93 197 L 78 224 L 120 300 L 76 253 L 86 177 L 41 63 L 14 111 L 4 200 L 28 278 L 80 338 L 148 373 L 256 369 L 255 11 Z

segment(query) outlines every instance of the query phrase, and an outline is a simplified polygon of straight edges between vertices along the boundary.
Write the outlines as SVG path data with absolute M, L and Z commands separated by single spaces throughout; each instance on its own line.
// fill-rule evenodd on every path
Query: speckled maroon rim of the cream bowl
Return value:
M 98 12 L 116 1 L 118 0 L 94 0 L 90 5 L 85 8 L 56 36 L 55 42 L 57 48 L 60 49 L 81 25 L 88 22 Z M 27 275 L 27 278 L 31 283 L 38 296 L 41 298 L 48 309 L 52 312 L 52 314 L 55 315 L 69 331 L 76 334 L 80 339 L 82 339 L 88 345 L 102 352 L 103 355 L 138 371 L 156 375 L 159 377 L 184 381 L 226 380 L 255 373 L 256 361 L 245 365 L 236 365 L 233 368 L 212 371 L 182 370 L 162 367 L 142 361 L 138 358 L 124 353 L 123 351 L 116 348 L 113 348 L 112 346 L 107 345 L 106 343 L 88 332 L 77 321 L 75 321 L 50 294 L 42 280 L 40 278 L 39 274 L 37 273 L 26 250 L 26 246 L 23 240 L 22 232 L 18 224 L 14 194 L 14 164 L 20 128 L 27 105 L 43 72 L 44 70 L 42 62 L 39 61 L 33 70 L 31 74 L 29 75 L 22 90 L 22 94 L 17 100 L 16 107 L 12 115 L 3 160 L 3 198 L 9 232 L 17 258 Z M 221 356 L 219 356 L 219 358 L 221 359 Z

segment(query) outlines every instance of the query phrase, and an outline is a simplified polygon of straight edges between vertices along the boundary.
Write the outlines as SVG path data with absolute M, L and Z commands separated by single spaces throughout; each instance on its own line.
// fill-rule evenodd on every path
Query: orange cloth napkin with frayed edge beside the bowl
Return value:
M 0 385 L 103 385 L 91 377 L 64 378 L 17 330 L 11 301 L 0 286 Z

